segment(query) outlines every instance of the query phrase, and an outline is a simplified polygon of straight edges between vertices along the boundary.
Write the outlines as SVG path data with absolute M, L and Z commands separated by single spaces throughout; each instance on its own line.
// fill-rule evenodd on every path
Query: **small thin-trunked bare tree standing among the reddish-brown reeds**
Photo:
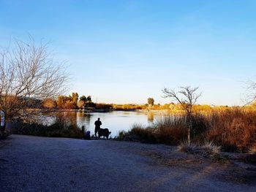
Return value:
M 178 101 L 178 103 L 181 104 L 182 109 L 186 112 L 188 124 L 187 139 L 189 143 L 192 129 L 192 107 L 201 96 L 201 93 L 197 93 L 197 89 L 198 87 L 192 88 L 190 86 L 186 86 L 180 87 L 179 91 L 167 88 L 162 90 L 164 98 L 170 98 L 172 101 Z

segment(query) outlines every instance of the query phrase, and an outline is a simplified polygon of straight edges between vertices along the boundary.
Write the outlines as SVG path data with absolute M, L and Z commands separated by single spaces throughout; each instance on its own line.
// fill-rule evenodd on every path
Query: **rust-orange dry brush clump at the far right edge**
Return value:
M 206 137 L 223 150 L 247 152 L 256 145 L 255 111 L 233 108 L 215 112 L 208 121 L 211 128 Z

